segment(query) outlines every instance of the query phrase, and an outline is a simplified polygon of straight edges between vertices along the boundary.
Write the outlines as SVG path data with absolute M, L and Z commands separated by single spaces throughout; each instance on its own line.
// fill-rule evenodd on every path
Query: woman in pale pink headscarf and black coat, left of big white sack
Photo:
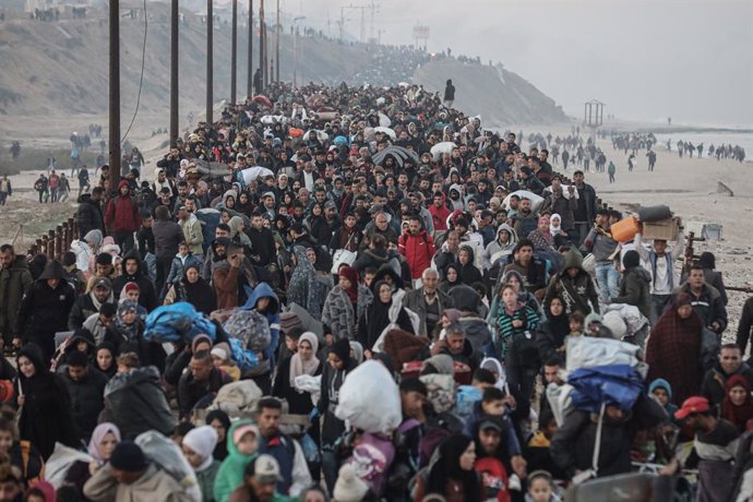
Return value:
M 296 385 L 296 378 L 322 373 L 322 363 L 316 358 L 319 338 L 313 333 L 306 332 L 298 338 L 296 347 L 296 354 L 279 363 L 272 395 L 287 399 L 291 414 L 309 415 L 313 409 L 311 394 Z

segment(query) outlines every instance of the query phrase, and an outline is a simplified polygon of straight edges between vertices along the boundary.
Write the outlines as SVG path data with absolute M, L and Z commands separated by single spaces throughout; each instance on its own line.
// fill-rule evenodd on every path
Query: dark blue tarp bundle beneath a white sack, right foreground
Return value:
M 581 368 L 567 376 L 573 386 L 571 398 L 575 409 L 599 413 L 601 403 L 613 404 L 630 410 L 645 384 L 637 370 L 628 364 Z

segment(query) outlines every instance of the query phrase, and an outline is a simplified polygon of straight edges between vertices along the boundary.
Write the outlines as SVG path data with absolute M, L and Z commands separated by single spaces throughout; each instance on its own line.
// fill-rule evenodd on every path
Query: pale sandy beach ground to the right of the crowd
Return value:
M 612 150 L 611 141 L 599 141 L 599 146 L 617 166 L 615 182 L 609 183 L 606 172 L 586 174 L 586 182 L 594 186 L 597 196 L 615 208 L 635 211 L 636 205 L 667 204 L 681 216 L 685 227 L 691 222 L 714 223 L 722 226 L 722 240 L 697 242 L 695 254 L 710 251 L 716 255 L 727 286 L 753 287 L 753 242 L 750 231 L 753 219 L 753 163 L 709 158 L 679 158 L 664 146 L 657 148 L 657 163 L 648 171 L 645 151 L 637 155 L 637 166 L 628 170 L 628 157 Z M 554 165 L 554 168 L 562 166 Z M 567 169 L 572 175 L 573 169 Z M 734 196 L 717 192 L 721 181 Z M 737 333 L 740 312 L 751 294 L 728 291 L 729 327 L 727 336 Z

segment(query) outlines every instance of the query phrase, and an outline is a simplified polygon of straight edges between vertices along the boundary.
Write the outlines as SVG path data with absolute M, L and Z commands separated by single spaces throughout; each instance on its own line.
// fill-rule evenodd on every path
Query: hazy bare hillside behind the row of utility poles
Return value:
M 142 63 L 143 21 L 125 15 L 121 21 L 121 113 L 123 129 L 135 107 Z M 215 100 L 229 96 L 229 26 L 215 27 Z M 248 31 L 239 27 L 238 98 L 246 91 Z M 294 37 L 280 37 L 280 76 L 292 80 Z M 86 20 L 37 22 L 14 19 L 0 23 L 0 140 L 29 135 L 67 140 L 70 131 L 91 122 L 107 122 L 108 105 L 107 13 L 91 12 Z M 551 123 L 564 120 L 554 103 L 519 76 L 497 69 L 455 60 L 429 61 L 426 55 L 386 46 L 338 44 L 299 37 L 298 82 L 346 81 L 391 85 L 406 81 L 442 89 L 452 77 L 458 87 L 457 106 L 489 119 L 506 122 Z M 254 52 L 259 41 L 254 39 Z M 205 26 L 184 13 L 180 36 L 180 120 L 204 109 Z M 274 50 L 271 56 L 274 56 Z M 258 53 L 254 53 L 254 59 Z M 420 68 L 419 68 L 420 67 Z M 416 69 L 418 68 L 418 71 Z M 12 69 L 12 71 L 8 71 Z M 415 72 L 415 74 L 414 74 Z M 473 91 L 471 91 L 473 89 Z M 141 108 L 131 135 L 147 138 L 167 125 L 169 103 L 169 23 L 167 5 L 150 3 L 148 35 Z M 485 117 L 486 118 L 486 117 Z

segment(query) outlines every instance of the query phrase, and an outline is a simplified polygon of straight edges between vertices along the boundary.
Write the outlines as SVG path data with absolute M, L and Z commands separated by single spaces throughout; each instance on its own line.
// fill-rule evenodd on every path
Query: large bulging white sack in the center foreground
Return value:
M 335 416 L 372 433 L 387 433 L 401 425 L 399 390 L 381 362 L 366 361 L 346 376 Z

